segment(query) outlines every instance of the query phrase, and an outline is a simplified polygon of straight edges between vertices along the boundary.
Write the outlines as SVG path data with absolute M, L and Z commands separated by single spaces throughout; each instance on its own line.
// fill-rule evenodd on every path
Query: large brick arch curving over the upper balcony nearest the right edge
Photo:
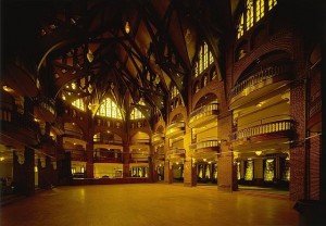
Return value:
M 260 46 L 254 51 L 247 54 L 246 58 L 235 63 L 234 66 L 234 80 L 238 80 L 240 74 L 248 68 L 256 59 L 261 58 L 273 51 L 284 51 L 290 54 L 292 59 L 293 55 L 293 35 L 291 33 L 283 34 L 279 37 L 269 39 L 266 43 Z

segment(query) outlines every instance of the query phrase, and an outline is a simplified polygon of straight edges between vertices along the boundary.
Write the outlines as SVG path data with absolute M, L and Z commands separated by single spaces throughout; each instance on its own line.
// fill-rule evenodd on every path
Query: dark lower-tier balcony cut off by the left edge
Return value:
M 1 139 L 9 139 L 8 141 L 18 141 L 29 146 L 39 143 L 40 128 L 30 115 L 21 114 L 14 110 L 0 109 L 0 130 L 4 136 Z

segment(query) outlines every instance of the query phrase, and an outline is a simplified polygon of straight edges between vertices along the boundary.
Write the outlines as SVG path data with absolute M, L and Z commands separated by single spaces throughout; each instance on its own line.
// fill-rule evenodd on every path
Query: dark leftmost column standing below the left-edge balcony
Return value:
M 18 194 L 35 193 L 34 149 L 14 151 L 13 154 L 13 187 Z

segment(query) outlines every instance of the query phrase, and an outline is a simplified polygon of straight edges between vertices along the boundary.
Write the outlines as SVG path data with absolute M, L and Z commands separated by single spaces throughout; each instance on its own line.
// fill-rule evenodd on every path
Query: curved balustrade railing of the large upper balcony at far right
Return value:
M 262 71 L 251 75 L 246 80 L 237 84 L 229 92 L 228 98 L 233 99 L 235 96 L 241 93 L 247 88 L 255 87 L 256 85 L 264 83 L 271 78 L 274 78 L 279 74 L 290 72 L 290 70 L 291 70 L 290 64 L 278 64 L 278 65 L 273 65 L 273 66 L 263 68 Z

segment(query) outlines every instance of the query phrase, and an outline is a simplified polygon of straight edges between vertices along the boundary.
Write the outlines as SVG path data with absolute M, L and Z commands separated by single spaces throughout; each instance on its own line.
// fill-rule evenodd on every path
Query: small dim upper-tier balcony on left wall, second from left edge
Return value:
M 43 96 L 39 96 L 35 99 L 34 111 L 36 115 L 43 121 L 54 122 L 57 117 L 55 102 Z

